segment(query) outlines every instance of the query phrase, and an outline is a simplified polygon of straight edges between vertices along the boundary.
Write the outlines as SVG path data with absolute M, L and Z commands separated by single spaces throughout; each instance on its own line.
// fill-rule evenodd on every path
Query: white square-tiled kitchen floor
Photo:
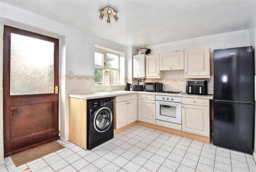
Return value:
M 212 144 L 135 125 L 92 150 L 72 142 L 66 148 L 26 165 L 15 167 L 10 157 L 3 171 L 256 171 L 253 156 Z

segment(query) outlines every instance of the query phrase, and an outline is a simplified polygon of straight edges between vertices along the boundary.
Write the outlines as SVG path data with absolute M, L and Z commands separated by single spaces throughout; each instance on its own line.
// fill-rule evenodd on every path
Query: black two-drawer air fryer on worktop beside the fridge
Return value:
M 187 94 L 207 95 L 207 81 L 187 81 Z

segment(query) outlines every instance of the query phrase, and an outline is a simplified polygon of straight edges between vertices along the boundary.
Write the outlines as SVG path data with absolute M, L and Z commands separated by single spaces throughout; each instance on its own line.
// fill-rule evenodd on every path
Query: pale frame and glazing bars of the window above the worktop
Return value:
M 117 71 L 118 72 L 118 85 L 120 85 L 120 54 L 117 54 L 117 53 L 113 53 L 113 52 L 110 52 L 110 51 L 105 51 L 103 49 L 95 49 L 94 50 L 94 53 L 97 52 L 97 53 L 101 53 L 103 54 L 103 64 L 102 64 L 102 68 L 98 65 L 95 65 L 94 64 L 94 69 L 98 68 L 98 69 L 103 69 L 103 72 L 105 70 L 114 70 L 114 71 Z M 107 54 L 113 54 L 115 56 L 118 56 L 118 69 L 115 69 L 115 68 L 107 68 Z M 94 55 L 94 58 L 95 58 L 95 55 Z M 94 59 L 95 60 L 95 59 Z M 94 70 L 95 72 L 95 70 Z M 102 82 L 95 82 L 96 85 L 107 85 L 107 79 L 108 79 L 108 74 L 104 72 L 104 75 L 103 75 L 103 81 Z M 95 81 L 95 79 L 94 79 Z

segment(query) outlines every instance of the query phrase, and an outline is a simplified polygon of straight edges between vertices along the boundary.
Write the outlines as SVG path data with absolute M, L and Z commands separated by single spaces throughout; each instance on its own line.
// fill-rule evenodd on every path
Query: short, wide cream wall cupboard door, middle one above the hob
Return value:
M 160 70 L 183 70 L 184 51 L 160 54 Z

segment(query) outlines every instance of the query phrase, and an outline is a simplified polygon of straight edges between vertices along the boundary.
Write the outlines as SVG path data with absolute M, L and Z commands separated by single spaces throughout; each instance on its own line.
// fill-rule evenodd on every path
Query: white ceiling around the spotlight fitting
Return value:
M 0 0 L 124 45 L 152 45 L 249 28 L 256 0 Z M 106 23 L 98 10 L 118 11 Z

